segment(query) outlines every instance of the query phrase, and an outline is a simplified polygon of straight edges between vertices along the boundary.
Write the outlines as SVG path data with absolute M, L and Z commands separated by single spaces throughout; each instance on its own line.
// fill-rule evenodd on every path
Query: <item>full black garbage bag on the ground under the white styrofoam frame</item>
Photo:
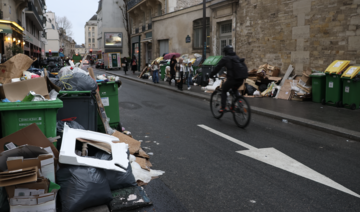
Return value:
M 56 179 L 61 186 L 59 198 L 64 212 L 79 212 L 112 200 L 103 169 L 63 164 L 56 172 Z

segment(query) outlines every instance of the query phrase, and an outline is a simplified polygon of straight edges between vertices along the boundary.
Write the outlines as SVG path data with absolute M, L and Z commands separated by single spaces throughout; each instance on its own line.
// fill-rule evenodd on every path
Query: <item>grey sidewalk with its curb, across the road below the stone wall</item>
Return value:
M 109 74 L 118 75 L 125 79 L 146 83 L 152 86 L 183 93 L 185 95 L 210 99 L 211 94 L 205 93 L 200 86 L 192 86 L 191 90 L 187 90 L 184 85 L 184 91 L 179 91 L 174 83 L 169 86 L 168 82 L 160 81 L 154 84 L 152 80 L 140 79 L 133 75 L 131 71 L 127 75 L 124 71 L 106 71 Z M 348 139 L 360 141 L 360 125 L 357 117 L 360 117 L 360 109 L 350 110 L 346 108 L 337 108 L 329 105 L 322 105 L 311 101 L 298 102 L 286 101 L 273 98 L 247 98 L 253 113 L 272 117 L 275 119 L 287 119 L 289 122 L 300 124 L 303 126 L 315 128 L 321 131 L 340 135 Z

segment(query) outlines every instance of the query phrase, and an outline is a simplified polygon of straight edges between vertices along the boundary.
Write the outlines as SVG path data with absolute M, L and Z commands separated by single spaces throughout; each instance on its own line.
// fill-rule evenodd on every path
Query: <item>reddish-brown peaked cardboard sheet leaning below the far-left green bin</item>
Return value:
M 27 126 L 5 138 L 0 139 L 0 152 L 3 152 L 4 146 L 7 143 L 13 142 L 16 146 L 32 145 L 42 148 L 51 147 L 54 153 L 55 159 L 59 158 L 59 151 L 56 147 L 45 137 L 36 124 Z M 2 153 L 1 153 L 2 154 Z M 0 154 L 0 157 L 1 157 Z M 37 157 L 37 156 L 35 156 Z

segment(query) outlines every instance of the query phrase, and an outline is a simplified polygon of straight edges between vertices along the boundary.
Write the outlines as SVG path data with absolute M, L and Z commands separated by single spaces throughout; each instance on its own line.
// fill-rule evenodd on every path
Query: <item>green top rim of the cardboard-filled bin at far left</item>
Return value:
M 54 101 L 38 101 L 38 102 L 6 102 L 0 103 L 0 111 L 11 110 L 39 110 L 51 108 L 63 108 L 63 102 L 60 99 Z

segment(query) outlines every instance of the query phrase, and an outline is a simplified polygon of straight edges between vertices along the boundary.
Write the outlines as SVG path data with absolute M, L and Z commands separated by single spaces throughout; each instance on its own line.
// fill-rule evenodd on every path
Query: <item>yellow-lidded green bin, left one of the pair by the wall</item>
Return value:
M 323 104 L 332 104 L 342 107 L 343 81 L 341 74 L 349 66 L 350 61 L 335 60 L 326 70 L 326 92 Z

